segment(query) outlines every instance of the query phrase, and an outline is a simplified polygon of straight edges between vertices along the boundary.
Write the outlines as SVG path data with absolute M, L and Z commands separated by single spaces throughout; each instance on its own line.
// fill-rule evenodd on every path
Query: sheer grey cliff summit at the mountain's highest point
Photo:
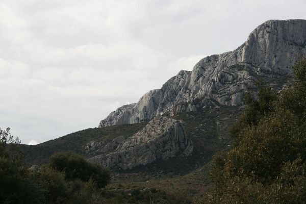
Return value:
M 254 29 L 240 47 L 242 61 L 283 74 L 305 56 L 306 20 L 268 20 Z

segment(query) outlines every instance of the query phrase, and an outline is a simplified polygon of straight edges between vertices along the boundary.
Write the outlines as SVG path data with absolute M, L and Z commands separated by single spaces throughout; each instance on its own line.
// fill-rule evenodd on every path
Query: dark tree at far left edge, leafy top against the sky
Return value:
M 20 141 L 0 129 L 0 203 L 41 203 L 43 193 L 22 165 Z

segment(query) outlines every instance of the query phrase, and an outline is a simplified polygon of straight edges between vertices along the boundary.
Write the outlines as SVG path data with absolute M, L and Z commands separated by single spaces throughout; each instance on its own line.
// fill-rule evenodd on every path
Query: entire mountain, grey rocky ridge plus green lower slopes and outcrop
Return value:
M 291 66 L 305 55 L 306 20 L 266 21 L 237 49 L 181 70 L 137 104 L 112 112 L 99 128 L 23 145 L 25 157 L 44 163 L 54 152 L 71 150 L 115 171 L 190 172 L 231 145 L 227 130 L 243 111 L 245 91 L 256 90 L 259 79 L 284 88 Z

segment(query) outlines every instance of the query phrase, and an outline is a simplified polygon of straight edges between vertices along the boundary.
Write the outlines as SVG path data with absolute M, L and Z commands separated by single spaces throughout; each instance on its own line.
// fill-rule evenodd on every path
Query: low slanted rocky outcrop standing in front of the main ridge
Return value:
M 174 119 L 155 117 L 139 132 L 123 140 L 115 150 L 89 159 L 103 167 L 132 169 L 156 160 L 189 156 L 193 144 L 182 124 Z

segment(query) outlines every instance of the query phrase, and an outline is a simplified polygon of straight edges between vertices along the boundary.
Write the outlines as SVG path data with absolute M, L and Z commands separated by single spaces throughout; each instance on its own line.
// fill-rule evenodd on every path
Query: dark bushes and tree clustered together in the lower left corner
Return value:
M 23 162 L 20 141 L 0 129 L 0 203 L 102 203 L 110 172 L 71 152 L 56 154 L 38 171 Z

